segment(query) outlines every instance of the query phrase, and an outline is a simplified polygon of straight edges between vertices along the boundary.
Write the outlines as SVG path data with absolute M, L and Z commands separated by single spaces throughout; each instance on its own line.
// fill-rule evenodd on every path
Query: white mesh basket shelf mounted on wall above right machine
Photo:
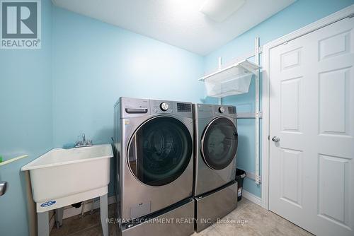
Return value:
M 208 96 L 224 98 L 249 93 L 251 78 L 260 68 L 257 64 L 244 60 L 203 76 L 199 80 L 205 82 Z

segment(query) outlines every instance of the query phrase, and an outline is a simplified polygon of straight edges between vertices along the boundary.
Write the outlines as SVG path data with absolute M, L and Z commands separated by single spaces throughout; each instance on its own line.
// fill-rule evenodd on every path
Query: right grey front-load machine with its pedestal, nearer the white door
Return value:
M 237 206 L 236 107 L 193 105 L 195 125 L 196 230 L 207 228 Z

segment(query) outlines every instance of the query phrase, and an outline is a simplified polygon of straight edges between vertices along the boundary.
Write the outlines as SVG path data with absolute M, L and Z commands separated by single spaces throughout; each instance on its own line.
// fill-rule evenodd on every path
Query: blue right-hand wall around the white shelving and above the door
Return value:
M 217 69 L 218 57 L 222 57 L 222 61 L 227 63 L 227 61 L 253 52 L 255 37 L 260 37 L 261 45 L 264 45 L 351 4 L 354 4 L 354 0 L 297 0 L 268 20 L 236 37 L 227 45 L 205 56 L 204 71 Z M 224 98 L 222 103 L 236 105 L 238 112 L 254 112 L 254 88 L 253 78 L 249 93 Z M 255 172 L 254 133 L 254 119 L 239 119 L 240 137 L 237 165 L 239 168 L 253 173 Z M 244 189 L 251 194 L 261 196 L 261 186 L 257 186 L 252 179 L 245 179 Z

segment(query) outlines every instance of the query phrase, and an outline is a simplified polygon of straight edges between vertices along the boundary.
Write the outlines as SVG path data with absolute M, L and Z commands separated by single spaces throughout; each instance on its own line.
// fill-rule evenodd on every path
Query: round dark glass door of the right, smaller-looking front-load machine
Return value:
M 222 170 L 234 160 L 237 144 L 238 134 L 234 123 L 223 117 L 214 119 L 202 134 L 202 158 L 212 169 Z

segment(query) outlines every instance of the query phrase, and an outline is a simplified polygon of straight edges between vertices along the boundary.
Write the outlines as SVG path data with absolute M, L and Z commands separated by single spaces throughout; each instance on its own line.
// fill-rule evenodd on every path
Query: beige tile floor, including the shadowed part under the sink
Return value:
M 115 205 L 109 206 L 109 216 L 115 216 Z M 244 223 L 236 223 L 244 220 Z M 247 220 L 247 222 L 246 222 Z M 229 223 L 227 223 L 229 221 Z M 232 222 L 233 221 L 233 222 Z M 230 223 L 232 222 L 232 223 Z M 116 235 L 117 225 L 110 224 L 110 235 Z M 83 218 L 73 216 L 64 219 L 63 226 L 59 229 L 53 228 L 50 236 L 98 236 L 102 235 L 100 213 L 95 210 L 92 214 L 85 213 Z M 193 236 L 305 236 L 311 233 L 297 227 L 293 223 L 281 218 L 280 216 L 266 211 L 261 206 L 252 203 L 247 199 L 239 201 L 237 208 L 222 219 L 221 223 L 215 223 L 209 228 Z

